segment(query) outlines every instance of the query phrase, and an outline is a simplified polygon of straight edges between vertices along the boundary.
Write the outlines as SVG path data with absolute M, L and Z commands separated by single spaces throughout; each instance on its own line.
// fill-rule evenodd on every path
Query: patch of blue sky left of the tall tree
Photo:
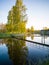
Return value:
M 7 22 L 9 10 L 15 4 L 15 0 L 0 0 L 0 23 Z

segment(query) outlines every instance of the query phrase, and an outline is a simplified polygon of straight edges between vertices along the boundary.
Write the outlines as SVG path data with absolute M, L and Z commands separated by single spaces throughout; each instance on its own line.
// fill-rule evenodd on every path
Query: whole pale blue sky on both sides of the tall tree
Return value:
M 16 0 L 0 0 L 0 23 L 7 22 L 8 11 L 15 5 Z M 27 7 L 27 28 L 35 29 L 49 27 L 49 0 L 23 0 Z

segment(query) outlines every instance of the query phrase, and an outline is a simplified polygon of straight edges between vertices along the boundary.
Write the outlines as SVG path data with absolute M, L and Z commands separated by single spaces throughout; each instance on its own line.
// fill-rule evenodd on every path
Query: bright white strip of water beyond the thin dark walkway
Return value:
M 49 36 L 47 35 L 39 35 L 39 34 L 27 34 L 27 40 L 36 41 L 43 44 L 49 44 Z

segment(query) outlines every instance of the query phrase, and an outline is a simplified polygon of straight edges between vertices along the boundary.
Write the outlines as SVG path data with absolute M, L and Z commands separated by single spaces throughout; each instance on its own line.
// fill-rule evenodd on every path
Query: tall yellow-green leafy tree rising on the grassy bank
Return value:
M 26 31 L 27 14 L 26 7 L 22 0 L 16 0 L 15 6 L 9 11 L 8 15 L 8 31 L 16 33 L 24 33 Z M 11 30 L 10 30 L 11 29 Z

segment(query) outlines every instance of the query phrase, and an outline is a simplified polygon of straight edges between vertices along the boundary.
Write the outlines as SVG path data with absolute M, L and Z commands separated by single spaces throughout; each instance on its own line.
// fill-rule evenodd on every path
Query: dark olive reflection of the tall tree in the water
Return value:
M 27 65 L 28 49 L 25 41 L 8 39 L 7 47 L 10 59 L 12 59 L 13 65 Z

